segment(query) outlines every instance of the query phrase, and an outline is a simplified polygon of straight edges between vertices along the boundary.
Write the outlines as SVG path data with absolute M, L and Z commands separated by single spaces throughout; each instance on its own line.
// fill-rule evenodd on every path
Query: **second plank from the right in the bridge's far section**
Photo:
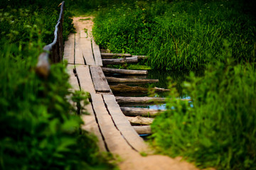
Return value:
M 85 63 L 87 65 L 95 65 L 95 60 L 92 55 L 91 38 L 80 38 L 80 47 L 82 49 L 82 55 L 85 58 Z

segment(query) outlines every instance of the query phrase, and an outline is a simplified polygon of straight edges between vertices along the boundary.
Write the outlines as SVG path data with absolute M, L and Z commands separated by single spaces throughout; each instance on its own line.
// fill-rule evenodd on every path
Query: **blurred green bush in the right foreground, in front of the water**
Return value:
M 171 157 L 181 155 L 201 167 L 255 169 L 255 65 L 235 65 L 225 42 L 221 60 L 205 77 L 184 84 L 191 103 L 171 89 L 167 111 L 151 125 L 153 145 Z

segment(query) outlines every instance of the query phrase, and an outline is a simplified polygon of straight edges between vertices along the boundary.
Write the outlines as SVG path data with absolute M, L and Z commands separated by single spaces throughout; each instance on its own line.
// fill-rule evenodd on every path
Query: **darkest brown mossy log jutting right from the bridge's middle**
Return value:
M 149 92 L 149 89 L 140 87 L 140 86 L 127 86 L 125 84 L 118 84 L 116 86 L 110 86 L 110 89 L 112 89 L 113 93 L 140 93 L 140 94 L 146 94 Z M 151 90 L 156 92 L 162 92 L 162 91 L 169 91 L 169 89 L 161 89 L 161 88 L 151 88 Z

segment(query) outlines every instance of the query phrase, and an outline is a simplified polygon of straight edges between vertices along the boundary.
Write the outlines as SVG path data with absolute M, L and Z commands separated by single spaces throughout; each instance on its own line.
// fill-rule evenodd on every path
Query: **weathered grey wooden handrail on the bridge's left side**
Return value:
M 43 52 L 38 57 L 36 64 L 36 74 L 47 78 L 50 73 L 50 61 L 53 63 L 61 62 L 63 60 L 63 9 L 65 1 L 60 5 L 60 16 L 54 30 L 54 40 L 50 44 L 43 47 Z

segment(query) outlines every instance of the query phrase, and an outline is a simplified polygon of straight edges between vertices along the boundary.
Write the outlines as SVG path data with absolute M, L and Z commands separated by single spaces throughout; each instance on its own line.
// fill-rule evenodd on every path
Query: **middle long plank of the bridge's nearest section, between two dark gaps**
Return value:
M 107 144 L 107 149 L 113 154 L 119 154 L 122 157 L 134 153 L 135 151 L 124 140 L 124 137 L 120 135 L 119 130 L 114 126 L 111 116 L 105 108 L 105 103 L 100 94 L 91 94 L 92 108 L 95 111 L 97 121 L 100 125 L 100 130 L 104 136 Z

